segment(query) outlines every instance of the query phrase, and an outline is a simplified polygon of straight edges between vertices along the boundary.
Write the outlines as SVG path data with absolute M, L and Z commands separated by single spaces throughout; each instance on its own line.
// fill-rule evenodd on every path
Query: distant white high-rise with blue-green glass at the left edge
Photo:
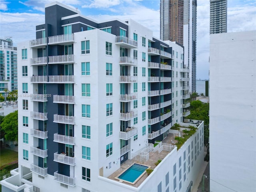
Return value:
M 18 89 L 17 48 L 12 38 L 0 39 L 0 93 Z

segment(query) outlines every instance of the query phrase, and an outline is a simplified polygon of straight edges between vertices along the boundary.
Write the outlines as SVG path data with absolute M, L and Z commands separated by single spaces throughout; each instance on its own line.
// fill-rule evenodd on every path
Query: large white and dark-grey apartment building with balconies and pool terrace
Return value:
M 18 46 L 19 168 L 2 189 L 191 189 L 204 158 L 204 122 L 184 119 L 183 46 L 152 34 L 133 20 L 96 22 L 46 5 L 36 39 Z M 170 129 L 175 123 L 180 128 Z

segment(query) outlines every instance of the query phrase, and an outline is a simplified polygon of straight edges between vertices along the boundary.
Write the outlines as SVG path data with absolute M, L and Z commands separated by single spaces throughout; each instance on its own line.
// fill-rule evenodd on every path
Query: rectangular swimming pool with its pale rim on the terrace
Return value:
M 134 163 L 119 174 L 116 179 L 135 184 L 146 173 L 147 168 L 149 166 Z

